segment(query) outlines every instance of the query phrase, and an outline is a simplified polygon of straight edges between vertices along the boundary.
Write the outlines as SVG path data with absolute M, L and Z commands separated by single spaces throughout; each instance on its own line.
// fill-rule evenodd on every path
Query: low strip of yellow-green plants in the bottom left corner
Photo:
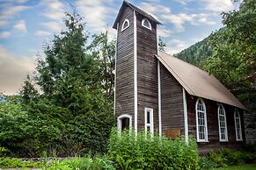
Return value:
M 0 167 L 1 168 L 12 168 L 12 167 L 40 167 L 40 162 L 35 161 L 22 161 L 20 159 L 2 157 L 0 158 Z

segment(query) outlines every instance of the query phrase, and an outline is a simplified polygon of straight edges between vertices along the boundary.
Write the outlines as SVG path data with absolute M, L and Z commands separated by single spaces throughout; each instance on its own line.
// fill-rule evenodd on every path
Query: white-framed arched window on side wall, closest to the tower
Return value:
M 208 142 L 206 107 L 201 98 L 199 98 L 195 104 L 195 112 L 197 141 Z

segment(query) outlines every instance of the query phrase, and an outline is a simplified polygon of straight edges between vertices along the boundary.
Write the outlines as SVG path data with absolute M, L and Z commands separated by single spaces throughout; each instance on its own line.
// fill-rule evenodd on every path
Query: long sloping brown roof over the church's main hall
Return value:
M 157 55 L 156 55 L 157 56 Z M 213 75 L 183 60 L 160 52 L 157 59 L 179 81 L 180 85 L 192 96 L 199 96 L 219 103 L 226 103 L 247 110 L 223 84 Z

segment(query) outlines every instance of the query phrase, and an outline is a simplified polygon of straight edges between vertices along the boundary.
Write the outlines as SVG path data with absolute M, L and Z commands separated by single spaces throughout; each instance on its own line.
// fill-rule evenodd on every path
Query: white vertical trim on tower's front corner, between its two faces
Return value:
M 137 89 L 137 18 L 134 11 L 134 93 L 135 93 L 135 135 L 138 132 L 138 89 Z

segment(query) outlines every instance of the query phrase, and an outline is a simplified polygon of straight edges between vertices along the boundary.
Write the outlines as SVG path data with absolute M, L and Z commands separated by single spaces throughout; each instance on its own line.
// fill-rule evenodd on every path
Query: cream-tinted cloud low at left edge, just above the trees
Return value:
M 35 69 L 35 60 L 35 56 L 19 56 L 0 46 L 0 91 L 7 95 L 16 94 L 26 74 Z

